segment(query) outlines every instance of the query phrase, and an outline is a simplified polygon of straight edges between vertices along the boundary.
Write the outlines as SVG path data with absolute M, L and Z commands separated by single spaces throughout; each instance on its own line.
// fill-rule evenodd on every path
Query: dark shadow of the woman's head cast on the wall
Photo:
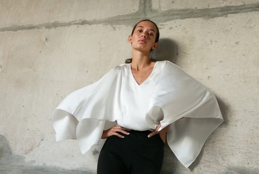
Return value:
M 163 61 L 168 60 L 175 64 L 176 56 L 178 52 L 178 45 L 175 41 L 171 39 L 160 39 L 159 40 L 159 47 L 150 52 L 150 59 L 153 61 Z

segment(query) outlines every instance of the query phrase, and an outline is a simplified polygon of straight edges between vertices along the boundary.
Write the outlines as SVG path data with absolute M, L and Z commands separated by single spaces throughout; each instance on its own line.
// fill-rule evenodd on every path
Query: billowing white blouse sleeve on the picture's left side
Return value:
M 117 66 L 97 82 L 69 94 L 52 112 L 56 141 L 77 139 L 83 154 L 99 142 L 104 127 L 122 119 L 123 76 L 122 66 Z

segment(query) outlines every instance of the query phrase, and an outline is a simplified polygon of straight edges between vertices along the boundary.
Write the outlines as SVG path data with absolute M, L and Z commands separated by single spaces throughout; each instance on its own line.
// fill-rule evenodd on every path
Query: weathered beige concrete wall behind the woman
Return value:
M 259 173 L 258 0 L 0 0 L 0 173 L 96 173 L 104 141 L 85 155 L 55 142 L 50 114 L 131 57 L 145 18 L 161 33 L 152 58 L 207 86 L 224 118 L 187 169 L 166 145 L 161 173 Z

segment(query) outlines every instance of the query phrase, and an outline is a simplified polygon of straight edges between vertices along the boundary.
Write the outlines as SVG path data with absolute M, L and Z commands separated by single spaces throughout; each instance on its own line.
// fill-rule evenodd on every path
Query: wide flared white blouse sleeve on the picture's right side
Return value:
M 223 118 L 215 96 L 181 68 L 166 61 L 150 100 L 150 115 L 162 109 L 161 129 L 170 124 L 167 143 L 187 168 Z

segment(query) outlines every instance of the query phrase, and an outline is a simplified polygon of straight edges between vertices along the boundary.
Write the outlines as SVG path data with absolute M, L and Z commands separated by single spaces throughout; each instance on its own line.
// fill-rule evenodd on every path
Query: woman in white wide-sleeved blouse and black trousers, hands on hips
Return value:
M 56 140 L 78 139 L 82 153 L 106 142 L 97 173 L 159 173 L 166 141 L 188 167 L 222 122 L 215 96 L 176 65 L 153 62 L 159 30 L 138 22 L 128 37 L 132 61 L 79 89 L 52 113 Z M 104 129 L 107 121 L 117 125 Z

